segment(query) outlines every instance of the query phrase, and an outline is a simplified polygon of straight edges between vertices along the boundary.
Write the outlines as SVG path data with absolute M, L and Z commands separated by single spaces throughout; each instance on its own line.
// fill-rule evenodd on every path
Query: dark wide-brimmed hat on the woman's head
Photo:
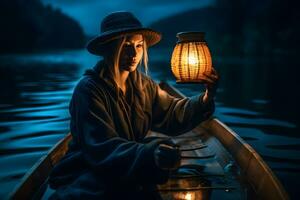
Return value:
M 141 34 L 148 47 L 158 43 L 161 34 L 142 23 L 130 12 L 119 11 L 107 15 L 101 23 L 100 34 L 87 44 L 87 50 L 95 55 L 103 55 L 105 44 L 126 34 Z

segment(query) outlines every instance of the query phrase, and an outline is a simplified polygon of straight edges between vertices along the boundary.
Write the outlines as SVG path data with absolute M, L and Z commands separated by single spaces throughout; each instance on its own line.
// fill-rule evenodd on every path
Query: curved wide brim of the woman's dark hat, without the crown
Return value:
M 142 34 L 148 47 L 155 45 L 161 40 L 161 34 L 150 28 L 122 28 L 98 35 L 88 42 L 86 48 L 90 53 L 101 56 L 104 54 L 107 42 L 120 38 L 125 34 Z

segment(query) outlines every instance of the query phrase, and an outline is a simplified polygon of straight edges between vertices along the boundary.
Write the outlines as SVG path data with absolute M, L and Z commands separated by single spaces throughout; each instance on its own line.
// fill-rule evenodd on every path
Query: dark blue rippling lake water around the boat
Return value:
M 188 96 L 203 90 L 200 85 L 175 84 L 170 52 L 155 51 L 150 52 L 153 79 L 166 80 Z M 1 56 L 0 199 L 69 131 L 72 90 L 96 61 L 84 50 Z M 221 75 L 215 116 L 263 156 L 296 198 L 300 99 L 295 64 L 237 58 L 216 58 L 214 63 Z

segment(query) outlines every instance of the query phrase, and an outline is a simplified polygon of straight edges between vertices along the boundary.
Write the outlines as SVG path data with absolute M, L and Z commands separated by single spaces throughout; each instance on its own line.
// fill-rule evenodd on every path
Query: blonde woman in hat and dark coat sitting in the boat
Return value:
M 149 130 L 178 135 L 214 111 L 218 76 L 207 75 L 204 95 L 174 98 L 147 72 L 147 48 L 158 32 L 142 27 L 129 12 L 105 17 L 90 53 L 103 56 L 76 86 L 70 103 L 72 142 L 55 166 L 52 199 L 155 199 L 151 188 L 180 163 L 168 139 L 144 139 Z

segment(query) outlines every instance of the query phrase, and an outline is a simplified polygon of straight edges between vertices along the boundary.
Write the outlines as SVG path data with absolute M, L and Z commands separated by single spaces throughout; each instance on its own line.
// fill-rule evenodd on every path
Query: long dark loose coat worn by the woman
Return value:
M 116 193 L 124 197 L 165 182 L 168 171 L 159 169 L 153 159 L 160 140 L 143 142 L 148 131 L 178 135 L 214 111 L 214 103 L 204 105 L 202 96 L 175 98 L 143 75 L 147 103 L 140 117 L 133 110 L 136 102 L 117 93 L 112 81 L 100 78 L 99 70 L 99 65 L 89 70 L 74 90 L 73 139 L 49 180 L 56 189 L 54 199 L 109 199 Z M 134 92 L 131 84 L 129 94 Z

